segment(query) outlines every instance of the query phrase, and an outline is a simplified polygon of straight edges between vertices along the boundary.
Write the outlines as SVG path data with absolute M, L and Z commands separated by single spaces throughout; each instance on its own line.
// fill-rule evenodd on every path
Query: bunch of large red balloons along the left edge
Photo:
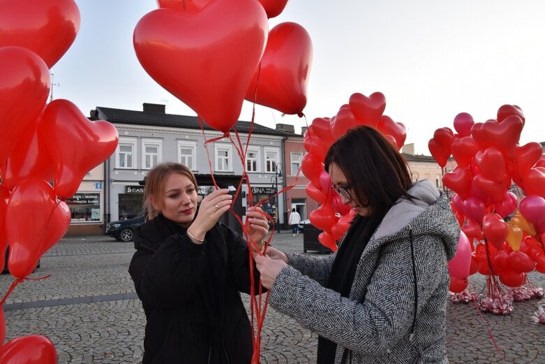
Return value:
M 46 105 L 50 68 L 79 28 L 73 0 L 0 0 L 0 266 L 9 245 L 12 288 L 68 230 L 62 200 L 117 147 L 112 124 L 90 122 L 67 100 Z M 5 334 L 3 314 L 0 326 Z M 8 361 L 57 363 L 57 355 L 47 338 L 31 335 L 0 347 L 0 363 Z

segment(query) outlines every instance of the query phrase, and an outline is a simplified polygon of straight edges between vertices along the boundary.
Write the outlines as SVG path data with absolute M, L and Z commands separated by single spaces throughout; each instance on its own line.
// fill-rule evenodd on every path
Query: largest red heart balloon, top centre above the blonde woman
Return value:
M 197 13 L 157 9 L 135 27 L 147 73 L 214 129 L 237 122 L 267 41 L 267 15 L 255 0 L 213 1 Z

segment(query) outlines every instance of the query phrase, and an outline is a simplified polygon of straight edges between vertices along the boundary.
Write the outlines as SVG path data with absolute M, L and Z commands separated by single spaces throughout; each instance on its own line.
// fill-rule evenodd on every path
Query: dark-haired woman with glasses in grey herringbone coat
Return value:
M 357 214 L 331 256 L 269 247 L 256 257 L 269 305 L 318 333 L 318 364 L 448 363 L 447 261 L 460 228 L 447 196 L 413 183 L 403 155 L 368 126 L 337 140 L 325 169 Z

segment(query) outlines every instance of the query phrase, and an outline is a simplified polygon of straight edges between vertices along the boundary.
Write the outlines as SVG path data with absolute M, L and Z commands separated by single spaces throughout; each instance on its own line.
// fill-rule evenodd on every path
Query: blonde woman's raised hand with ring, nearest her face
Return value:
M 188 227 L 190 238 L 193 236 L 197 240 L 196 243 L 204 240 L 207 231 L 216 225 L 221 215 L 225 214 L 231 207 L 233 196 L 228 194 L 228 191 L 227 189 L 218 189 L 200 202 L 197 217 Z M 195 242 L 194 239 L 191 240 Z

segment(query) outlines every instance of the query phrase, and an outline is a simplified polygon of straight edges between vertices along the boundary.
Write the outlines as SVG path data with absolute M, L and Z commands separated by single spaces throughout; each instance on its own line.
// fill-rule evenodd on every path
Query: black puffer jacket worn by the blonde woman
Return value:
M 218 223 L 196 245 L 159 215 L 135 231 L 135 248 L 129 273 L 147 317 L 142 363 L 250 363 L 239 293 L 251 286 L 246 241 Z

